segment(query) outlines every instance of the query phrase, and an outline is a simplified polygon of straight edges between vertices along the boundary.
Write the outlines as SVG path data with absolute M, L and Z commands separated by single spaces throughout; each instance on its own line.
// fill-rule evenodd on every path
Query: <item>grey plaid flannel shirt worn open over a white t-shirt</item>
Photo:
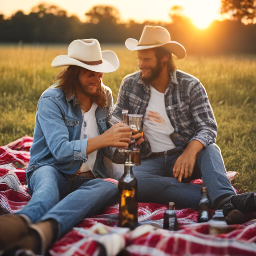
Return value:
M 204 147 L 216 142 L 217 123 L 205 88 L 194 76 L 176 70 L 170 74 L 170 82 L 164 93 L 165 107 L 174 132 L 170 138 L 183 151 L 192 140 Z M 117 102 L 111 118 L 122 118 L 122 110 L 130 114 L 143 114 L 150 99 L 149 83 L 141 79 L 141 71 L 127 75 L 120 86 Z M 141 144 L 141 159 L 150 158 L 151 147 L 147 140 Z

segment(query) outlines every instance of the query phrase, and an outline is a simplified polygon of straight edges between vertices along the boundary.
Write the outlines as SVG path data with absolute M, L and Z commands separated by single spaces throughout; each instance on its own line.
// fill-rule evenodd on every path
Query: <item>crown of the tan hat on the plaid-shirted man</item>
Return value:
M 168 42 L 170 42 L 170 34 L 166 28 L 161 26 L 145 26 L 138 42 L 138 46 Z

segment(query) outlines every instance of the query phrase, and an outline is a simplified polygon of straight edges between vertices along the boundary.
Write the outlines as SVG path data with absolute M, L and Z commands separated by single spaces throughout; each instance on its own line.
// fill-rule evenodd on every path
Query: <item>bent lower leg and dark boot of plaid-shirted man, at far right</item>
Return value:
M 223 209 L 228 224 L 243 223 L 243 214 L 256 211 L 254 192 L 236 195 L 227 177 L 219 147 L 212 144 L 203 149 L 197 159 L 202 179 L 208 188 L 213 209 Z

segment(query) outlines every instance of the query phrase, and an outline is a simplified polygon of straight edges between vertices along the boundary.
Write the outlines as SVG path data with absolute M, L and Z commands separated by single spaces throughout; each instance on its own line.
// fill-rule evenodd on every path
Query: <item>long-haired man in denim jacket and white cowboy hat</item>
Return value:
M 86 215 L 118 201 L 116 185 L 103 179 L 109 175 L 103 158 L 113 156 L 109 147 L 128 146 L 131 129 L 120 123 L 107 130 L 112 94 L 102 77 L 119 60 L 86 39 L 73 41 L 68 55 L 57 56 L 52 66 L 67 68 L 38 102 L 27 168 L 32 198 L 17 214 L 0 217 L 0 250 L 44 254 Z

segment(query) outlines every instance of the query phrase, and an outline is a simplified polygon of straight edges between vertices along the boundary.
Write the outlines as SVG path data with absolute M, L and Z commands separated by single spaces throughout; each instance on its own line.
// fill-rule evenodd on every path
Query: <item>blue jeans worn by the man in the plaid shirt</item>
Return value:
M 202 185 L 189 182 L 202 178 L 207 187 L 211 205 L 224 194 L 236 194 L 224 165 L 219 147 L 211 144 L 202 149 L 195 163 L 193 174 L 184 182 L 173 176 L 173 167 L 181 154 L 141 161 L 133 167 L 138 180 L 138 202 L 155 202 L 168 205 L 174 202 L 177 208 L 198 208 Z

